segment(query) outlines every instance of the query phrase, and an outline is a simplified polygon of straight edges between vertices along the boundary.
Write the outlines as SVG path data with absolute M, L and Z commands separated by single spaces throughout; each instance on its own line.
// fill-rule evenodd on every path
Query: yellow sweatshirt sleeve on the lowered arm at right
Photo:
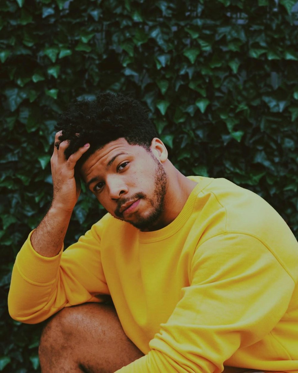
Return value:
M 167 323 L 148 355 L 117 373 L 222 372 L 238 349 L 269 333 L 288 308 L 295 283 L 262 242 L 225 233 L 205 241 Z

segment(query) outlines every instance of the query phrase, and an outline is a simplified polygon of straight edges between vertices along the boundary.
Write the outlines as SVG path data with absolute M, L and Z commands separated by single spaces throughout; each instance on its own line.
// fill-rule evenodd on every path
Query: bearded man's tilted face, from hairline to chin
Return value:
M 162 219 L 168 177 L 159 160 L 124 138 L 95 151 L 81 167 L 89 189 L 105 209 L 142 230 Z

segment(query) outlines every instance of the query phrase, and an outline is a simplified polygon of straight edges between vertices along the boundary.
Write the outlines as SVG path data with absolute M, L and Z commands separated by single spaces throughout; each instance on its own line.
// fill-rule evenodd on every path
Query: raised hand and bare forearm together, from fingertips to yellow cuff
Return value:
M 60 143 L 60 135 L 61 132 L 56 134 L 51 158 L 53 201 L 47 215 L 31 235 L 32 247 L 45 257 L 54 257 L 61 250 L 73 208 L 80 195 L 80 181 L 75 179 L 75 165 L 89 149 L 89 144 L 86 144 L 66 159 L 64 150 L 68 141 Z

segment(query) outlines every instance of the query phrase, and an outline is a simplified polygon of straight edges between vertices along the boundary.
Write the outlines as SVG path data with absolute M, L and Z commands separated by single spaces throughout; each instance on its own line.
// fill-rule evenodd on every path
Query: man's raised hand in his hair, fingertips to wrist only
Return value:
M 73 153 L 69 159 L 65 158 L 64 151 L 68 146 L 68 141 L 59 143 L 55 136 L 53 156 L 51 157 L 51 169 L 53 179 L 53 202 L 52 207 L 58 210 L 72 211 L 80 195 L 80 181 L 75 178 L 75 165 L 82 155 L 89 149 L 89 144 L 85 144 Z

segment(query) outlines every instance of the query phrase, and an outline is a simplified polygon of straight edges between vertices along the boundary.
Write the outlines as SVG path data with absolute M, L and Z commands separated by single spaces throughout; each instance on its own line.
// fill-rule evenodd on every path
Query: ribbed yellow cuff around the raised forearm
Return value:
M 54 257 L 48 258 L 38 254 L 32 247 L 30 237 L 32 231 L 21 250 L 16 256 L 15 265 L 18 267 L 20 275 L 29 282 L 48 284 L 56 279 L 56 274 L 60 264 L 63 246 L 59 254 Z

